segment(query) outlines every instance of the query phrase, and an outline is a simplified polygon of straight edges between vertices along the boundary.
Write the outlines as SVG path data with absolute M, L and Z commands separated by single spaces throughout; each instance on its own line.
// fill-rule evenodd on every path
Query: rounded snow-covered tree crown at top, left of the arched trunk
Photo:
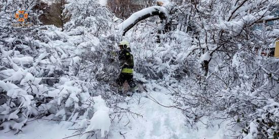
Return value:
M 67 30 L 82 26 L 95 36 L 107 33 L 113 26 L 112 14 L 106 7 L 102 7 L 97 0 L 69 0 L 65 5 L 64 13 L 71 17 L 65 24 Z

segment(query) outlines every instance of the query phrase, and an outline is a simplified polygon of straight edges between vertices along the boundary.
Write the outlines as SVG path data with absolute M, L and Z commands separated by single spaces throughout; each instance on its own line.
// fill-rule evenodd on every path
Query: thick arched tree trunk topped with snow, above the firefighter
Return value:
M 128 19 L 118 25 L 119 33 L 124 36 L 137 22 L 152 16 L 159 16 L 162 21 L 166 21 L 168 12 L 164 7 L 153 6 L 133 13 Z

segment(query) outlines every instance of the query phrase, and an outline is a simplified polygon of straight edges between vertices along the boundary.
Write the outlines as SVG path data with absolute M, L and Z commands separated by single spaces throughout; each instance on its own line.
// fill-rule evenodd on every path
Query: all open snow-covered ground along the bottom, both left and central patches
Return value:
M 172 105 L 169 95 L 158 91 L 150 91 L 148 94 L 164 106 Z M 141 114 L 142 117 L 126 115 L 122 118 L 114 118 L 108 138 L 228 138 L 224 136 L 226 132 L 222 125 L 218 129 L 217 127 L 206 128 L 204 124 L 198 123 L 198 130 L 191 129 L 191 127 L 186 126 L 185 117 L 180 110 L 162 107 L 145 96 L 148 95 L 143 92 L 125 98 L 126 102 L 119 106 L 130 108 L 132 112 Z M 202 119 L 202 122 L 206 123 L 207 121 Z M 0 138 L 64 138 L 77 134 L 75 130 L 71 130 L 73 128 L 75 126 L 71 122 L 34 120 L 28 122 L 23 127 L 23 132 L 19 132 L 17 135 L 14 135 L 15 131 L 7 133 L 0 131 Z M 80 136 L 70 138 L 80 138 Z

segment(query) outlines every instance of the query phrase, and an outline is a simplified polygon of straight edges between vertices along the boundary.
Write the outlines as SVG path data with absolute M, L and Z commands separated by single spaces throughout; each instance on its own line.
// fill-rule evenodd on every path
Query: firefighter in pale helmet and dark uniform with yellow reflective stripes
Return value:
M 129 42 L 122 40 L 118 46 L 120 48 L 120 51 L 118 52 L 118 59 L 120 61 L 121 73 L 117 78 L 116 83 L 119 85 L 119 93 L 122 94 L 122 85 L 125 81 L 128 82 L 132 92 L 137 92 L 137 86 L 133 81 L 134 61 Z

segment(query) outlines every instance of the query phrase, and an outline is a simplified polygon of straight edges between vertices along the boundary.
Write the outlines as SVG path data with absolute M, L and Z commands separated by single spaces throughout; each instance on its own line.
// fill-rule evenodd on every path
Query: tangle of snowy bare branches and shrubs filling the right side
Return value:
M 187 64 L 186 67 L 191 69 L 192 77 L 188 79 L 196 81 L 197 84 L 189 85 L 188 90 L 181 89 L 180 95 L 175 93 L 177 98 L 182 100 L 178 101 L 179 105 L 186 103 L 188 106 L 203 109 L 204 112 L 195 116 L 196 118 L 202 115 L 210 116 L 213 112 L 223 113 L 220 119 L 227 118 L 242 129 L 251 129 L 251 133 L 250 130 L 243 129 L 243 132 L 248 134 L 254 134 L 254 127 L 257 127 L 257 136 L 272 137 L 271 134 L 278 132 L 277 127 L 268 126 L 266 122 L 263 122 L 265 128 L 250 126 L 264 113 L 274 111 L 266 109 L 270 99 L 274 99 L 275 102 L 279 100 L 276 95 L 278 60 L 260 55 L 262 50 L 274 45 L 274 40 L 278 37 L 272 33 L 273 30 L 266 31 L 264 28 L 264 21 L 272 18 L 269 14 L 278 10 L 271 5 L 278 3 L 276 1 L 185 3 L 182 8 L 190 7 L 190 11 L 185 10 L 185 15 L 186 19 L 188 17 L 191 20 L 186 22 L 188 27 L 184 28 L 184 31 L 188 30 L 197 36 L 187 48 L 189 52 L 185 54 L 187 59 L 183 60 Z M 256 29 L 257 26 L 262 26 L 261 30 Z M 260 112 L 260 109 L 266 112 Z M 275 124 L 277 119 L 271 117 L 272 114 L 270 119 L 264 121 L 273 121 Z M 260 124 L 262 123 L 253 125 Z

